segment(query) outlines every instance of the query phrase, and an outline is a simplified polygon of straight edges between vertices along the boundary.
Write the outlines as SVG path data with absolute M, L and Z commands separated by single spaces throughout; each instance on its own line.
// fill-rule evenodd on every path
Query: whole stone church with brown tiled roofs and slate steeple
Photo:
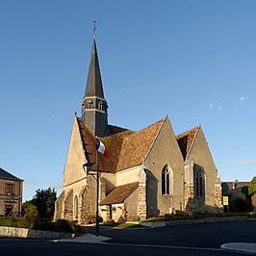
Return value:
M 90 175 L 96 169 L 95 137 L 109 151 L 108 158 L 99 153 L 97 161 L 104 220 L 213 213 L 222 207 L 218 171 L 200 125 L 174 135 L 167 116 L 137 132 L 108 123 L 93 38 L 82 116 L 73 116 L 55 219 L 95 216 L 96 180 Z

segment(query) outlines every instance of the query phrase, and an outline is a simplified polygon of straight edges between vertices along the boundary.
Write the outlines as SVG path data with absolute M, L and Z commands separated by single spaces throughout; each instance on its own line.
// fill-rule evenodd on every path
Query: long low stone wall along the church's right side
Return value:
M 240 217 L 221 217 L 221 218 L 198 218 L 198 219 L 184 219 L 184 220 L 169 220 L 169 221 L 148 221 L 140 222 L 142 226 L 157 228 L 174 225 L 186 225 L 194 223 L 206 223 L 206 222 L 220 222 L 220 221 L 231 221 L 231 220 L 243 220 L 247 219 L 247 216 Z

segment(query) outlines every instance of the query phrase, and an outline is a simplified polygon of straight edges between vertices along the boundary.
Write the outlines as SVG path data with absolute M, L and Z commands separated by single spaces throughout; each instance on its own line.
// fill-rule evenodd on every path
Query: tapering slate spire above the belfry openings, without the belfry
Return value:
M 104 98 L 99 61 L 98 61 L 98 54 L 97 54 L 97 48 L 96 48 L 96 40 L 94 37 L 92 40 L 87 90 L 85 93 L 85 97 L 92 97 L 92 96 Z

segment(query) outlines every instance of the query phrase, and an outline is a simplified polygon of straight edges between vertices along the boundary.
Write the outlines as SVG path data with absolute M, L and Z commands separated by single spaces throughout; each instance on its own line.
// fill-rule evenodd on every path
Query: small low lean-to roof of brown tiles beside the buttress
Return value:
M 132 192 L 139 187 L 139 182 L 117 186 L 101 202 L 100 205 L 122 203 Z

